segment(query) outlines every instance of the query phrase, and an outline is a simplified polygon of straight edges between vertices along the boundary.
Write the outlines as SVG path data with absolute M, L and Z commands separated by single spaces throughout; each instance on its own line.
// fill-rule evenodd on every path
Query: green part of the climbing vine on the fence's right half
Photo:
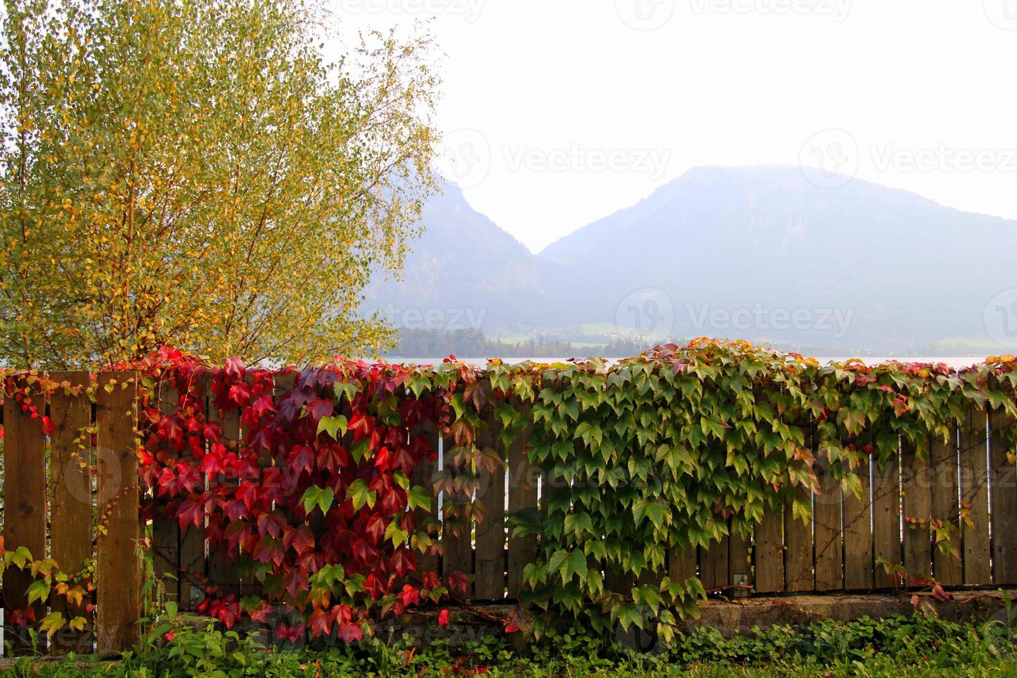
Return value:
M 527 600 L 552 614 L 534 630 L 564 616 L 599 631 L 652 621 L 669 637 L 676 614 L 704 596 L 695 577 L 645 576 L 666 571 L 669 552 L 749 538 L 764 511 L 782 506 L 807 520 L 810 496 L 827 491 L 820 475 L 859 496 L 864 461 L 883 469 L 902 444 L 928 455 L 931 439 L 947 439 L 972 405 L 1014 417 L 1015 368 L 1012 356 L 960 371 L 822 366 L 744 342 L 697 340 L 618 364 L 513 372 L 514 390 L 531 406 L 514 425 L 532 421 L 529 454 L 545 479 L 542 510 L 510 518 L 515 534 L 542 540 L 526 568 Z M 1014 439 L 1012 427 L 1005 433 Z M 957 516 L 937 517 L 938 547 L 955 552 L 944 525 Z M 622 585 L 606 585 L 607 576 Z

